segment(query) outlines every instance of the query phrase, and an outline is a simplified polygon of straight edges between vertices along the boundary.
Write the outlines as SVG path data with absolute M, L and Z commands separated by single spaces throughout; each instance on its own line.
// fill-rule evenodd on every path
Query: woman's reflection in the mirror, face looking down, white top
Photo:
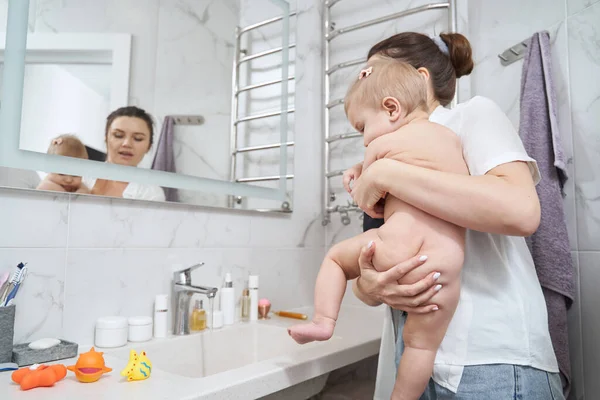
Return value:
M 106 118 L 104 139 L 106 162 L 137 167 L 154 142 L 152 117 L 138 107 L 121 107 Z M 165 194 L 159 186 L 106 179 L 86 179 L 84 182 L 95 195 L 165 201 Z

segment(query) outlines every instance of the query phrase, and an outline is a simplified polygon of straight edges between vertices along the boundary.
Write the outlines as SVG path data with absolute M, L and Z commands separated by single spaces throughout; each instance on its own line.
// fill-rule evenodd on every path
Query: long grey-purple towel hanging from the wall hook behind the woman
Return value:
M 552 82 L 550 35 L 533 35 L 521 77 L 521 124 L 519 134 L 527 153 L 536 159 L 541 182 L 537 186 L 542 217 L 527 244 L 542 285 L 548 326 L 563 391 L 571 387 L 567 309 L 573 303 L 573 261 L 563 210 L 562 188 L 567 179 L 566 162 L 558 131 L 556 93 Z

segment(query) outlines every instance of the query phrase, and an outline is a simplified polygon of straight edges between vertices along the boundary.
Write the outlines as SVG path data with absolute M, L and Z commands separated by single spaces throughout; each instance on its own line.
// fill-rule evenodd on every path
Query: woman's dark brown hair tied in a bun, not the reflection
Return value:
M 448 46 L 448 54 L 429 36 L 403 32 L 371 47 L 369 58 L 384 55 L 404 61 L 417 69 L 426 68 L 434 95 L 445 106 L 454 98 L 456 78 L 469 75 L 473 70 L 473 58 L 471 44 L 460 33 L 442 33 L 440 38 Z

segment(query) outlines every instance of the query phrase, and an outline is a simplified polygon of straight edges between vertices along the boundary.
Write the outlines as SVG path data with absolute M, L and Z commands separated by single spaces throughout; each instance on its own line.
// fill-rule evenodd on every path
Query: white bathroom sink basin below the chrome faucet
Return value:
M 320 345 L 321 342 L 298 345 L 285 328 L 256 323 L 206 330 L 133 348 L 146 351 L 155 368 L 202 378 Z M 129 349 L 116 350 L 111 355 L 127 360 Z

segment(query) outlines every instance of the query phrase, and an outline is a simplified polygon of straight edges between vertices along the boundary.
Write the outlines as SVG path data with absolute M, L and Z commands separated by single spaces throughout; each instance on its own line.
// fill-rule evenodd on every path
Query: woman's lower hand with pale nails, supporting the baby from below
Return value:
M 417 255 L 385 272 L 378 272 L 373 267 L 373 254 L 374 242 L 360 252 L 360 276 L 354 282 L 353 290 L 361 301 L 368 305 L 384 303 L 392 308 L 417 314 L 438 310 L 437 305 L 426 303 L 442 288 L 441 285 L 436 285 L 439 273 L 432 272 L 412 285 L 398 283 L 408 272 L 423 265 L 427 261 L 426 256 Z

